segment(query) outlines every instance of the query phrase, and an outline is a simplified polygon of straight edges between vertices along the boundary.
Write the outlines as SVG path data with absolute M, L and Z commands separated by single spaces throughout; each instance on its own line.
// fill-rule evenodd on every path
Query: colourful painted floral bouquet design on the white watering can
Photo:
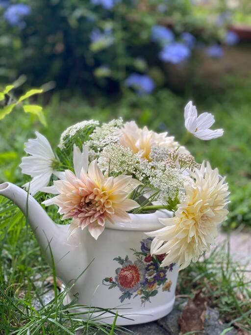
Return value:
M 172 281 L 168 280 L 167 274 L 173 271 L 174 264 L 170 264 L 164 268 L 160 267 L 163 255 L 151 256 L 152 238 L 143 239 L 141 243 L 141 251 L 134 251 L 136 260 L 129 260 L 120 256 L 113 258 L 121 266 L 115 271 L 115 277 L 106 277 L 103 279 L 103 284 L 109 286 L 109 289 L 118 287 L 123 293 L 120 296 L 120 301 L 139 296 L 143 305 L 151 302 L 151 297 L 154 297 L 159 290 L 170 291 Z

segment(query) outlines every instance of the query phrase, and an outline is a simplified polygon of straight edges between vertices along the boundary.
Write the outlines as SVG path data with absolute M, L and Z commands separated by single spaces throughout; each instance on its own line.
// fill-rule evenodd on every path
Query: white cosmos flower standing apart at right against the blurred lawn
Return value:
M 185 106 L 185 127 L 201 140 L 211 140 L 223 135 L 223 129 L 209 129 L 214 123 L 214 116 L 211 113 L 202 113 L 198 116 L 196 106 L 191 101 Z

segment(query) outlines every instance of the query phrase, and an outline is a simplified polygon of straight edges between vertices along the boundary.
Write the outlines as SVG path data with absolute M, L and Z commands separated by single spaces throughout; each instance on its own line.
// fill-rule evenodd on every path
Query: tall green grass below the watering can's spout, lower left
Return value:
M 70 304 L 63 305 L 64 297 L 77 279 L 59 293 L 55 268 L 52 265 L 50 269 L 41 256 L 39 246 L 23 214 L 2 197 L 0 207 L 4 208 L 0 211 L 0 334 L 74 335 L 77 330 L 82 330 L 83 334 L 112 335 L 117 334 L 119 329 L 122 332 L 122 328 L 116 327 L 115 324 L 106 325 L 105 319 L 103 323 L 97 322 L 98 319 L 102 319 L 104 312 L 116 315 L 113 310 L 79 306 L 77 297 Z M 53 255 L 51 256 L 53 259 Z M 88 267 L 83 269 L 82 274 L 85 271 L 88 271 Z M 49 276 L 53 277 L 55 298 L 44 305 L 43 295 L 48 291 L 44 283 Z M 35 285 L 38 278 L 42 283 L 41 287 Z M 41 309 L 38 311 L 32 306 L 34 299 L 41 303 Z M 76 308 L 89 309 L 86 312 L 86 321 L 74 311 Z M 94 311 L 99 313 L 98 318 L 93 317 Z

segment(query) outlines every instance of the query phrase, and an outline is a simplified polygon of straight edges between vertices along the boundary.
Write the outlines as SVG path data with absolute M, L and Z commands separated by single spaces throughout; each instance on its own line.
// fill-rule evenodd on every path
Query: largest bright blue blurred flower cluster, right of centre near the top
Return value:
M 178 42 L 171 43 L 163 48 L 159 53 L 159 58 L 164 62 L 170 62 L 173 64 L 178 64 L 191 55 L 189 48 Z

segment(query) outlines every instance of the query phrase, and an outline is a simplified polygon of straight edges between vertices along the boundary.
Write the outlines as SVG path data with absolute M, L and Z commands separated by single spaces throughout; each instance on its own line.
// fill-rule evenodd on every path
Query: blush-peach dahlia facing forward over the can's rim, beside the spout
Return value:
M 127 199 L 131 179 L 131 176 L 104 177 L 94 160 L 88 172 L 82 168 L 79 176 L 76 176 L 66 170 L 65 180 L 54 181 L 59 194 L 50 200 L 50 204 L 59 206 L 58 212 L 63 214 L 63 220 L 74 219 L 70 234 L 76 228 L 83 230 L 87 227 L 97 239 L 104 230 L 105 220 L 111 223 L 130 221 L 126 211 L 139 206 Z

